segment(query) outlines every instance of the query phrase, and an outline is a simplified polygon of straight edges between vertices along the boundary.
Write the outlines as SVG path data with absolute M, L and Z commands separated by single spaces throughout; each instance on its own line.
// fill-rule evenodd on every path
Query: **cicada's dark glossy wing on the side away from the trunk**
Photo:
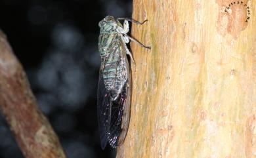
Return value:
M 108 143 L 108 133 L 110 133 L 110 111 L 111 100 L 106 91 L 103 76 L 100 72 L 98 79 L 98 98 L 97 98 L 97 114 L 98 114 L 98 128 L 100 133 L 101 148 L 106 148 Z

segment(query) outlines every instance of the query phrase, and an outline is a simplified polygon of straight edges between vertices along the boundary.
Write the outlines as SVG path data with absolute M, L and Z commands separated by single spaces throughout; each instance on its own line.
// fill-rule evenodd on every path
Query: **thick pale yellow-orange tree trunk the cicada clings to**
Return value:
M 256 1 L 134 0 L 131 121 L 117 157 L 256 157 Z

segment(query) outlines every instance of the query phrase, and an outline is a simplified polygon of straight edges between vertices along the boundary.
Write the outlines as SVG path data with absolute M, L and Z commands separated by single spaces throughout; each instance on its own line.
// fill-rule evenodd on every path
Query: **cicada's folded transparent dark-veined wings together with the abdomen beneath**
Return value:
M 101 60 L 97 108 L 102 149 L 108 142 L 114 148 L 121 144 L 129 127 L 131 78 L 126 50 L 121 35 L 116 35 Z

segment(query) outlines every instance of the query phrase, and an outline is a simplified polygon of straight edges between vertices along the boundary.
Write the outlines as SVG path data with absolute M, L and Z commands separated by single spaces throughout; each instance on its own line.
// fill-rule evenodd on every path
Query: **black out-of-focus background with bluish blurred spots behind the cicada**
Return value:
M 131 0 L 0 1 L 0 28 L 69 158 L 116 155 L 98 135 L 98 22 L 131 10 Z M 22 157 L 1 115 L 0 158 Z

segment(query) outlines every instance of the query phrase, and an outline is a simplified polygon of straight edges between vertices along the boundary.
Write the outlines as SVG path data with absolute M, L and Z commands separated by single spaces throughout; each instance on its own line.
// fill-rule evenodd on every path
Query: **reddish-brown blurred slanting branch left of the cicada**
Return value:
M 24 157 L 66 157 L 49 121 L 37 108 L 26 74 L 1 31 L 0 109 Z

